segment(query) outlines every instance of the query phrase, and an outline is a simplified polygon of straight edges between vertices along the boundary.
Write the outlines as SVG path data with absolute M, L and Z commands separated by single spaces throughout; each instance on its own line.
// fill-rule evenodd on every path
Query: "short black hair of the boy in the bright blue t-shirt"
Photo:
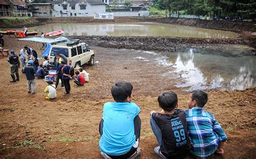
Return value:
M 131 97 L 133 86 L 130 82 L 117 82 L 112 86 L 111 93 L 116 102 L 125 102 Z

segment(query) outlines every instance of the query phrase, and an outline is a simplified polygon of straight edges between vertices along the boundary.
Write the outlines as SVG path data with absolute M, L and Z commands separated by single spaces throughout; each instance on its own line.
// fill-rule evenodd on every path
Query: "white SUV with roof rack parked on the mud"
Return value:
M 48 56 L 50 69 L 56 69 L 56 54 L 59 54 L 71 67 L 71 74 L 73 74 L 73 68 L 77 65 L 82 66 L 85 63 L 89 65 L 95 64 L 93 50 L 89 49 L 84 42 L 79 40 L 52 45 Z

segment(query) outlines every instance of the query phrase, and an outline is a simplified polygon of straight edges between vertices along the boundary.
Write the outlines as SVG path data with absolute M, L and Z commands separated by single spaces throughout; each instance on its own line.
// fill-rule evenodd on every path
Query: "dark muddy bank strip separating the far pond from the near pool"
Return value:
M 206 53 L 224 56 L 255 55 L 254 49 L 234 54 L 233 50 L 222 49 L 226 45 L 250 45 L 250 40 L 243 39 L 201 39 L 201 38 L 174 38 L 174 37 L 107 37 L 107 36 L 70 36 L 72 39 L 80 39 L 90 46 L 106 48 L 126 48 L 139 50 L 156 50 L 160 52 L 186 51 L 191 48 L 195 53 L 207 50 Z M 218 47 L 216 47 L 218 46 Z M 214 47 L 214 49 L 211 49 Z M 256 47 L 256 46 L 251 46 Z

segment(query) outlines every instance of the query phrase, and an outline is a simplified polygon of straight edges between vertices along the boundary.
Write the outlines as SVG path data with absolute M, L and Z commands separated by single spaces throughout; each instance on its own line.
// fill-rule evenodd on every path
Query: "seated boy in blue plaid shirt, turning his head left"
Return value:
M 207 103 L 207 93 L 201 90 L 192 91 L 188 97 L 186 110 L 187 128 L 195 156 L 206 158 L 214 152 L 223 154 L 227 136 L 213 114 L 203 107 Z

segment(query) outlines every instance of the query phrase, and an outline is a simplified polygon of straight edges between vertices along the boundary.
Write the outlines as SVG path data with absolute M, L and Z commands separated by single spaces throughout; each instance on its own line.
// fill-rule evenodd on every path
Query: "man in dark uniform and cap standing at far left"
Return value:
M 11 78 L 12 81 L 10 82 L 16 82 L 19 81 L 19 57 L 17 55 L 15 55 L 14 50 L 11 50 L 11 55 L 8 57 L 7 61 L 10 63 L 10 67 L 11 67 Z M 16 79 L 15 79 L 15 75 L 16 74 Z

